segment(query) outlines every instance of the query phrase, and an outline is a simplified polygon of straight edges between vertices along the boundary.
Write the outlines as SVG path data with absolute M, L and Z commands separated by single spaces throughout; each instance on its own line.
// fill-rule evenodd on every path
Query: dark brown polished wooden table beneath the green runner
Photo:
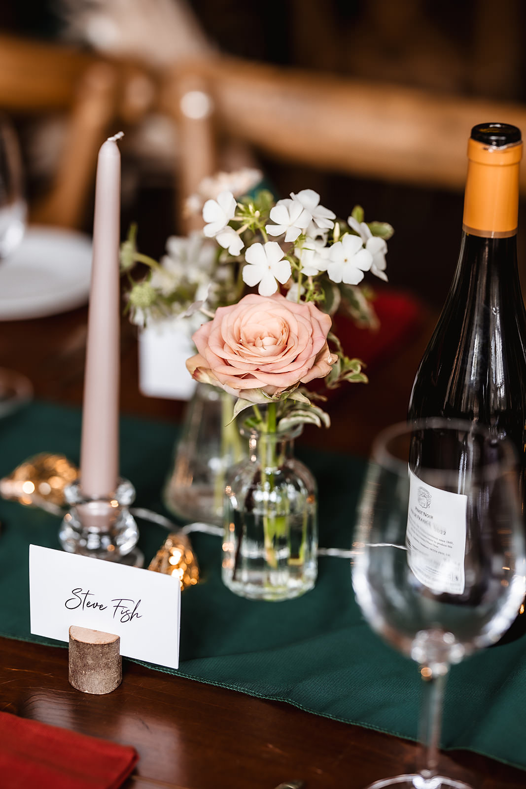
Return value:
M 371 370 L 367 387 L 349 387 L 331 405 L 329 432 L 309 430 L 304 440 L 366 454 L 380 428 L 403 420 L 434 320 L 428 316 L 411 342 Z M 39 398 L 80 404 L 85 336 L 85 309 L 0 323 L 0 366 L 29 376 Z M 121 370 L 123 411 L 181 417 L 180 403 L 139 394 L 127 323 Z M 0 638 L 0 709 L 135 746 L 140 761 L 126 787 L 274 789 L 303 779 L 306 789 L 360 789 L 416 766 L 411 742 L 136 664 L 125 664 L 114 693 L 81 694 L 69 685 L 67 660 L 66 649 Z M 474 789 L 526 786 L 526 772 L 472 753 L 442 754 L 441 769 Z

